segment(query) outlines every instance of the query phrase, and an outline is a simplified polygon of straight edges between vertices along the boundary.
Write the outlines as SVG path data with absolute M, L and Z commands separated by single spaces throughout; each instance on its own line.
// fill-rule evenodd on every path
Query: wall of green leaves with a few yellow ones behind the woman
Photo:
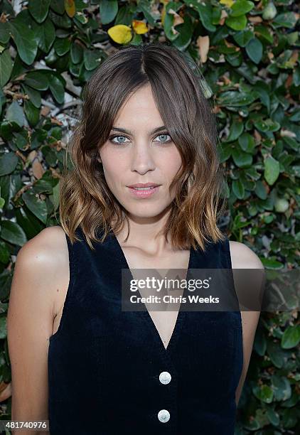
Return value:
M 288 0 L 2 0 L 0 14 L 0 417 L 10 419 L 6 312 L 16 254 L 59 225 L 82 85 L 120 46 L 169 41 L 200 66 L 227 171 L 220 225 L 267 270 L 299 267 L 300 26 L 299 4 Z M 262 313 L 237 434 L 299 433 L 299 340 L 296 307 Z

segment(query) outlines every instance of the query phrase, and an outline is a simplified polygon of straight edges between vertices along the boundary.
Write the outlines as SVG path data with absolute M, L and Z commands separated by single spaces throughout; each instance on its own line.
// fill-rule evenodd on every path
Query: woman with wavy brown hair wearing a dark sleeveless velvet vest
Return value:
M 233 434 L 259 312 L 121 306 L 122 269 L 262 268 L 217 226 L 223 175 L 200 84 L 159 43 L 127 45 L 87 83 L 61 227 L 17 256 L 13 419 L 49 419 L 53 435 Z

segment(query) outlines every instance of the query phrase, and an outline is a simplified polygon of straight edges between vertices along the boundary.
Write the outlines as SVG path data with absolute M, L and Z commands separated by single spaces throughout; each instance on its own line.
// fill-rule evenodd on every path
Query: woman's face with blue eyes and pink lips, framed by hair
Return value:
M 150 85 L 129 97 L 113 127 L 100 149 L 107 185 L 129 216 L 154 218 L 175 196 L 176 186 L 171 195 L 169 186 L 181 168 L 181 155 L 164 128 Z M 128 187 L 136 183 L 159 187 L 152 192 Z

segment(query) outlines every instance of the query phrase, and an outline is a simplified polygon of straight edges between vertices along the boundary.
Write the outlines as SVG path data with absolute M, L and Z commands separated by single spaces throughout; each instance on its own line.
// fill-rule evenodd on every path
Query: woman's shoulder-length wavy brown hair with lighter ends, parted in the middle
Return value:
M 97 67 L 82 90 L 80 119 L 66 149 L 73 167 L 65 164 L 60 178 L 60 222 L 71 242 L 80 240 L 75 235 L 80 226 L 95 249 L 92 241 L 102 242 L 111 230 L 122 230 L 125 219 L 128 223 L 127 210 L 105 181 L 99 150 L 122 104 L 149 84 L 182 159 L 172 181 L 172 186 L 178 184 L 164 235 L 178 249 L 197 249 L 197 244 L 205 249 L 206 241 L 224 240 L 218 218 L 225 205 L 225 177 L 215 115 L 203 83 L 193 60 L 168 43 L 126 45 Z M 104 230 L 102 238 L 97 237 L 98 227 Z

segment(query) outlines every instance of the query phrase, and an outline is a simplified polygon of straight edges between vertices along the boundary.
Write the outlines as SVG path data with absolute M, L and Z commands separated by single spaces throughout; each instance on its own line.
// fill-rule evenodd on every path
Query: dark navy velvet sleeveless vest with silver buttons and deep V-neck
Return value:
M 50 435 L 233 435 L 240 311 L 179 310 L 165 349 L 148 311 L 122 310 L 129 267 L 114 233 L 95 251 L 76 233 L 48 350 Z M 197 268 L 231 269 L 229 241 L 192 247 L 188 271 Z

